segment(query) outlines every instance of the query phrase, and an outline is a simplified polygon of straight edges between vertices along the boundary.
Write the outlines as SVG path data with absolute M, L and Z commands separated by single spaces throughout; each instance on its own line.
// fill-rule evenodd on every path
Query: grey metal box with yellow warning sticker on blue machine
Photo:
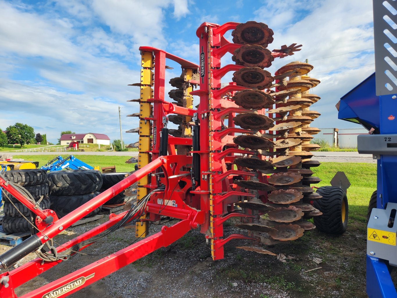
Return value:
M 393 227 L 389 228 L 387 224 L 389 223 L 389 217 L 392 209 L 397 209 L 396 203 L 388 203 L 386 209 L 372 209 L 370 220 L 368 221 L 368 229 L 382 230 L 385 231 L 386 237 L 390 237 L 390 243 L 384 244 L 380 241 L 370 241 L 368 240 L 367 234 L 367 255 L 378 257 L 380 259 L 388 260 L 390 265 L 397 265 L 397 246 L 396 239 L 392 234 L 389 235 L 388 232 L 397 232 L 397 221 L 395 221 Z M 368 232 L 367 232 L 368 233 Z M 377 235 L 379 238 L 382 235 Z

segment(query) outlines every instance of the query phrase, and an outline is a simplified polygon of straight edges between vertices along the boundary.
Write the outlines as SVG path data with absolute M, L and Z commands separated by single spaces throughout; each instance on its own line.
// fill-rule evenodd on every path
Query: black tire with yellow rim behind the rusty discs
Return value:
M 322 232 L 328 234 L 343 234 L 349 218 L 349 203 L 346 193 L 339 187 L 322 186 L 317 193 L 321 199 L 314 201 L 313 207 L 323 214 L 313 217 L 314 224 Z M 342 218 L 342 206 L 345 206 L 345 218 Z

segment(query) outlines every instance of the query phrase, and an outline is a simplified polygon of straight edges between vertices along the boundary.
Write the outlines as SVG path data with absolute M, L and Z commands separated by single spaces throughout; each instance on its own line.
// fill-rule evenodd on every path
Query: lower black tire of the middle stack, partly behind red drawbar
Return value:
M 81 205 L 87 203 L 93 197 L 96 197 L 100 192 L 94 192 L 92 194 L 85 195 L 50 195 L 51 209 L 55 211 L 58 218 L 64 217 L 77 209 Z M 96 215 L 102 206 L 96 208 L 94 211 L 87 214 L 85 217 L 91 217 Z

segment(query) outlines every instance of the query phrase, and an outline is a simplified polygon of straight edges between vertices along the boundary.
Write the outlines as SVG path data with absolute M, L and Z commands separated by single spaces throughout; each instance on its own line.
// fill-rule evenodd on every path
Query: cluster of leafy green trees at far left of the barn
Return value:
M 32 126 L 23 123 L 15 123 L 14 125 L 8 126 L 6 128 L 6 133 L 0 129 L 0 146 L 4 147 L 8 144 L 19 144 L 21 148 L 25 144 L 36 144 L 42 143 L 47 145 L 46 134 L 35 134 L 35 130 Z

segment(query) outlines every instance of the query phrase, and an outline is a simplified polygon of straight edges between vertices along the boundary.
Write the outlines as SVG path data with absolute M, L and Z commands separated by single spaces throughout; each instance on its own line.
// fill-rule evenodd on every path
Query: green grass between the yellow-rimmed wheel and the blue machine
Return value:
M 367 163 L 322 163 L 317 168 L 311 168 L 322 179 L 314 186 L 327 186 L 336 172 L 345 172 L 351 186 L 347 189 L 349 200 L 349 223 L 366 223 L 368 203 L 372 192 L 376 190 L 376 164 Z

